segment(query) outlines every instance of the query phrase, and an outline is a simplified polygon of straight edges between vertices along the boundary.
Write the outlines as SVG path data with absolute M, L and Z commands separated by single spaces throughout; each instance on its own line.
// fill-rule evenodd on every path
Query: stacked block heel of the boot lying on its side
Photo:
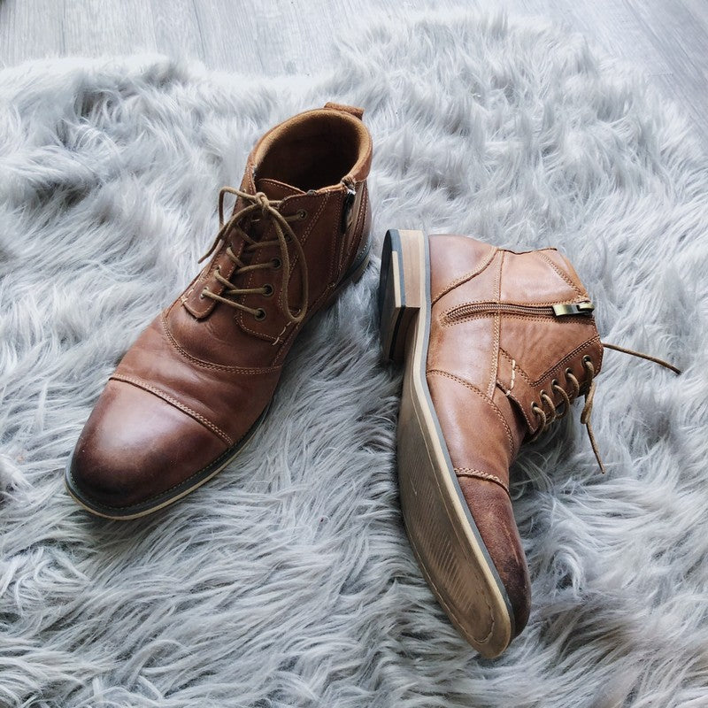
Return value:
M 405 340 L 425 303 L 425 236 L 421 231 L 386 232 L 381 252 L 379 317 L 383 357 L 401 364 Z

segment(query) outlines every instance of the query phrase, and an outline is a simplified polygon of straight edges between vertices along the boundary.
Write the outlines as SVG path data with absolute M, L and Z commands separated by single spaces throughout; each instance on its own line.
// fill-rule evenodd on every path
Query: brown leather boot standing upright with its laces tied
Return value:
M 273 127 L 241 189 L 221 190 L 210 262 L 127 351 L 66 468 L 90 512 L 133 519 L 171 504 L 264 419 L 304 323 L 368 262 L 362 113 L 327 104 Z M 225 193 L 236 197 L 226 222 Z

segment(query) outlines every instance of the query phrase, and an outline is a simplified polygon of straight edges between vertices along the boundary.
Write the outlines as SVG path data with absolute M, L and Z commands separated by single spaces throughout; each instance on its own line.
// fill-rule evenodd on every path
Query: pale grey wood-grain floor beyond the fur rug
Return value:
M 0 65 L 147 50 L 225 71 L 309 73 L 338 35 L 394 4 L 555 19 L 650 74 L 708 147 L 708 0 L 0 0 Z M 280 38 L 277 54 L 260 49 L 266 36 Z

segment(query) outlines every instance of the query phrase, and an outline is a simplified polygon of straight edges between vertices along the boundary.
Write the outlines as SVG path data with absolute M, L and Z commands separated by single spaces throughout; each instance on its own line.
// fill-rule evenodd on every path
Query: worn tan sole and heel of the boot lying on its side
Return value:
M 430 336 L 427 236 L 390 230 L 381 254 L 384 357 L 404 363 L 397 429 L 401 511 L 430 589 L 468 643 L 486 658 L 512 640 L 513 613 L 452 469 L 427 387 Z

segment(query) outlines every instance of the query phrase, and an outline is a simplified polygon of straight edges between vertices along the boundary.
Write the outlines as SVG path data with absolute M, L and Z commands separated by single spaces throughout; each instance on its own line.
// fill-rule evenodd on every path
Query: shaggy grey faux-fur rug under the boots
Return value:
M 366 107 L 388 227 L 557 245 L 608 342 L 594 425 L 528 448 L 513 496 L 526 632 L 450 627 L 397 505 L 399 374 L 378 260 L 296 346 L 235 464 L 138 522 L 93 519 L 65 460 L 117 360 L 196 273 L 217 190 L 294 112 Z M 0 72 L 0 705 L 708 705 L 708 160 L 579 36 L 503 17 L 373 25 L 313 78 L 165 58 Z

